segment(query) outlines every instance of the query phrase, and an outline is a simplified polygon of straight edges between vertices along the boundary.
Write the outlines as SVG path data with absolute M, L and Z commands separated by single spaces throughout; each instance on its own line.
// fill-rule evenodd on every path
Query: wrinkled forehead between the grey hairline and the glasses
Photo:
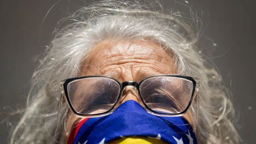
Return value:
M 95 44 L 82 62 L 82 75 L 107 75 L 106 71 L 126 69 L 175 73 L 173 54 L 151 41 L 103 41 Z M 89 72 L 89 74 L 88 74 Z M 160 74 L 159 73 L 159 74 Z

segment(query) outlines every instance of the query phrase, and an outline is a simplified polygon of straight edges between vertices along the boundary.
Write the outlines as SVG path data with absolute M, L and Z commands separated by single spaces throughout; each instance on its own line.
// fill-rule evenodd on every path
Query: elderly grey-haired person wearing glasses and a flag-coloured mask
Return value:
M 84 7 L 32 76 L 11 144 L 238 144 L 232 103 L 179 16 Z

